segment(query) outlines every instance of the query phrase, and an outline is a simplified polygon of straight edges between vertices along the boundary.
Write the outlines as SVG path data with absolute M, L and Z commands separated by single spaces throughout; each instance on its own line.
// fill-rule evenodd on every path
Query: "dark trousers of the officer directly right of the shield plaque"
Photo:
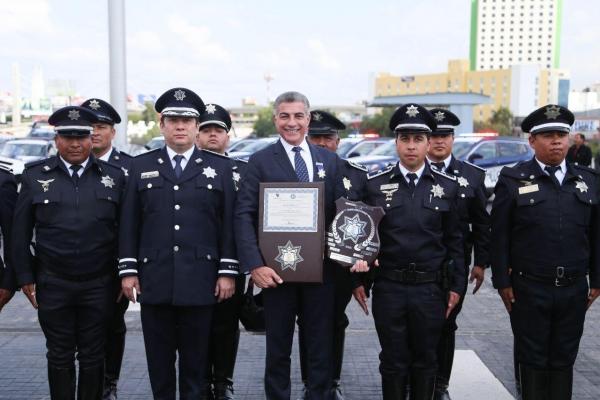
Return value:
M 375 281 L 373 318 L 381 345 L 379 372 L 383 379 L 409 373 L 435 376 L 444 311 L 445 297 L 437 283 Z

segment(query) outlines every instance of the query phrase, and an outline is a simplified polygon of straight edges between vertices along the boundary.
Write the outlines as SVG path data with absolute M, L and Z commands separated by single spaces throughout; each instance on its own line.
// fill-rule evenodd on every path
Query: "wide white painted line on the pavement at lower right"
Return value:
M 456 350 L 450 397 L 461 400 L 514 400 L 473 350 Z

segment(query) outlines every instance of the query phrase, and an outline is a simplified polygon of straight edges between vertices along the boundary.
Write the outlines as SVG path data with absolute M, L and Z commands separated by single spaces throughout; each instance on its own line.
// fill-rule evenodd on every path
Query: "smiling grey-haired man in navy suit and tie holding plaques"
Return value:
M 273 121 L 280 140 L 250 157 L 235 210 L 238 253 L 243 271 L 263 288 L 267 354 L 265 394 L 269 400 L 290 398 L 290 354 L 296 317 L 306 334 L 308 399 L 332 398 L 334 285 L 333 266 L 325 260 L 322 284 L 285 283 L 265 266 L 258 247 L 257 225 L 261 182 L 325 182 L 325 222 L 331 223 L 335 200 L 344 195 L 336 154 L 309 144 L 308 99 L 286 92 L 275 100 Z

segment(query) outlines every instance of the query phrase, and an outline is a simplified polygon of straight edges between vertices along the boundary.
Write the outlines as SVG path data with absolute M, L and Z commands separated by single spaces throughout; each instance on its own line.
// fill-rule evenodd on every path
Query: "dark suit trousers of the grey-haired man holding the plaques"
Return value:
M 308 399 L 332 398 L 334 285 L 284 283 L 263 290 L 268 400 L 289 400 L 290 364 L 296 317 L 302 320 L 307 355 Z

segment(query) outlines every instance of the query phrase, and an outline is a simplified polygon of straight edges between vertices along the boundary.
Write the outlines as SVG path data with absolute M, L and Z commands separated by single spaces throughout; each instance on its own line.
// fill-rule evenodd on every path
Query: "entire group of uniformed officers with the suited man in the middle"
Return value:
M 568 109 L 547 105 L 523 121 L 535 157 L 502 170 L 490 215 L 485 171 L 452 155 L 460 121 L 444 109 L 399 107 L 389 121 L 399 162 L 368 174 L 335 153 L 344 124 L 298 92 L 275 100 L 280 138 L 248 162 L 225 153 L 223 107 L 174 88 L 155 108 L 162 149 L 113 148 L 121 119 L 89 99 L 50 117 L 58 155 L 28 164 L 19 191 L 0 172 L 0 309 L 17 289 L 37 309 L 51 399 L 117 399 L 130 302 L 141 304 L 155 399 L 234 399 L 250 275 L 262 288 L 267 399 L 290 399 L 296 324 L 302 397 L 343 399 L 345 309 L 354 295 L 368 314 L 372 294 L 384 400 L 447 400 L 457 315 L 489 266 L 522 398 L 571 398 L 600 294 L 600 179 L 566 161 Z M 323 283 L 287 283 L 259 249 L 259 185 L 317 181 L 327 225 L 340 197 L 383 208 L 379 256 L 351 268 L 325 258 Z

